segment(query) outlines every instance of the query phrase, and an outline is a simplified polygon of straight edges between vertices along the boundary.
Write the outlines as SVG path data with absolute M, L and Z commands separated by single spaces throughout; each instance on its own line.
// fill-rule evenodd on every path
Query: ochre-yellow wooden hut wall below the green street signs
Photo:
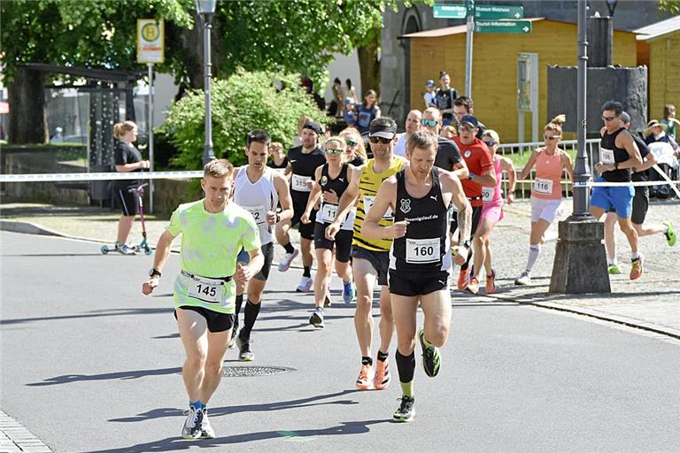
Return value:
M 538 20 L 529 35 L 475 33 L 472 98 L 475 115 L 496 129 L 502 142 L 529 142 L 531 115 L 526 114 L 525 136 L 517 136 L 517 54 L 538 54 L 539 131 L 548 122 L 548 65 L 577 65 L 576 24 Z M 411 106 L 422 108 L 425 81 L 437 81 L 439 71 L 451 74 L 452 87 L 465 94 L 466 34 L 411 38 Z M 614 32 L 614 65 L 637 64 L 635 35 Z M 576 93 L 574 93 L 576 96 Z

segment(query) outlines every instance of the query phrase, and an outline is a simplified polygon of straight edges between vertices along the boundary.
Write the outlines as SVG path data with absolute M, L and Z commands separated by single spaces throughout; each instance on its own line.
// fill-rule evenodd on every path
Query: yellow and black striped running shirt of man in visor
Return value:
M 368 159 L 366 166 L 361 172 L 359 180 L 359 203 L 357 204 L 357 218 L 354 220 L 354 238 L 352 244 L 362 249 L 372 251 L 390 251 L 392 245 L 391 239 L 367 239 L 361 235 L 361 226 L 364 224 L 366 214 L 370 211 L 373 202 L 375 201 L 375 194 L 378 193 L 378 188 L 383 184 L 383 180 L 388 179 L 391 175 L 400 172 L 406 166 L 406 160 L 402 157 L 392 157 L 390 166 L 383 173 L 375 173 L 373 167 L 375 165 L 374 159 Z M 385 212 L 383 219 L 378 222 L 380 226 L 391 226 L 394 222 L 394 214 L 392 210 Z

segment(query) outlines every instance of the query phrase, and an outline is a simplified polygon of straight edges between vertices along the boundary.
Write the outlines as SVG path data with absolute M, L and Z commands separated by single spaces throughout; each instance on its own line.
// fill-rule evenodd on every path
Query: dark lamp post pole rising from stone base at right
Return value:
M 576 165 L 574 166 L 574 218 L 591 217 L 588 211 L 588 189 L 585 182 L 591 178 L 588 156 L 585 152 L 586 133 L 586 82 L 588 63 L 587 0 L 578 0 L 578 81 L 576 85 Z

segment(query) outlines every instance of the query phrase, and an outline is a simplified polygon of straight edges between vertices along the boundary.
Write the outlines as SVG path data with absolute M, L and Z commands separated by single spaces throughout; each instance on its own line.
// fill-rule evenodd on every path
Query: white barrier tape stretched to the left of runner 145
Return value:
M 196 172 L 129 172 L 129 173 L 35 173 L 0 174 L 0 182 L 56 182 L 63 180 L 172 180 L 203 178 Z

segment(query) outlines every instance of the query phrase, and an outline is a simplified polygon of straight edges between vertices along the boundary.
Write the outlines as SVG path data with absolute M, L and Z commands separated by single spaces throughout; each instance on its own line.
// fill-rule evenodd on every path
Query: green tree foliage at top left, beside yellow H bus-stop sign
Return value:
M 11 81 L 15 65 L 49 63 L 139 70 L 136 19 L 166 19 L 192 27 L 192 0 L 13 0 L 0 2 L 0 58 Z M 166 51 L 161 71 L 182 65 Z M 178 59 L 179 58 L 179 59 Z

